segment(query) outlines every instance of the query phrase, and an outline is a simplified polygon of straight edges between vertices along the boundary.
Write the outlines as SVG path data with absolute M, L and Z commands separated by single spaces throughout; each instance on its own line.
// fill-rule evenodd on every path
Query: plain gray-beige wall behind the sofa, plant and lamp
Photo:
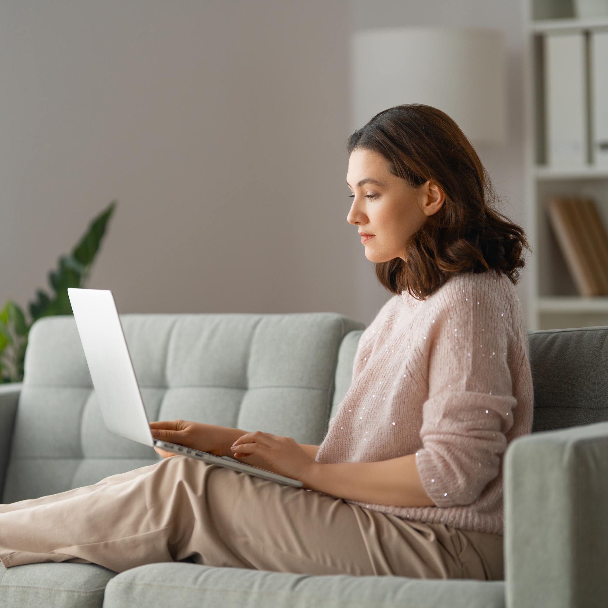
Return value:
M 121 313 L 336 311 L 390 297 L 345 176 L 348 35 L 500 27 L 510 142 L 478 149 L 503 212 L 523 201 L 519 2 L 0 0 L 0 305 L 26 308 L 108 203 L 88 287 Z M 525 306 L 525 272 L 520 298 Z

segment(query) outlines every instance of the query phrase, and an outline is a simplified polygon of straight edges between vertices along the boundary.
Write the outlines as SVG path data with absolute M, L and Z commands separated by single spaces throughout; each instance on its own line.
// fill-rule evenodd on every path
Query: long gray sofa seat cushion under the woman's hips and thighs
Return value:
M 103 608 L 503 608 L 504 581 L 402 576 L 302 575 L 185 562 L 114 576 Z

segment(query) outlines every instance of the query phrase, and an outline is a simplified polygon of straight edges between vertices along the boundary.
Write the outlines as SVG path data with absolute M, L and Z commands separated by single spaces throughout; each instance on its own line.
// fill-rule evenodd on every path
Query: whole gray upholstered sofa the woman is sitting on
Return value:
M 204 421 L 309 444 L 322 441 L 348 390 L 365 329 L 335 313 L 120 318 L 149 420 Z M 0 565 L 0 606 L 607 606 L 608 327 L 528 335 L 534 432 L 505 454 L 504 581 L 312 576 L 188 561 L 117 574 L 48 562 Z M 0 502 L 89 485 L 160 458 L 106 430 L 74 317 L 38 319 L 24 381 L 0 385 Z

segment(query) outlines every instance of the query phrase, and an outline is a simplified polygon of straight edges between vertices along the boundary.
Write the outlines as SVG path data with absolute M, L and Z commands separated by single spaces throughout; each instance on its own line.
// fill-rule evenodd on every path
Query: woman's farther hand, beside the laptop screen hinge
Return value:
M 218 456 L 224 455 L 223 429 L 227 427 L 216 426 L 215 424 L 204 424 L 200 422 L 190 422 L 188 420 L 160 420 L 148 423 L 153 431 L 154 439 L 177 443 L 181 446 L 190 447 L 201 452 L 210 452 Z M 156 431 L 158 434 L 156 434 Z M 159 447 L 154 447 L 154 451 L 163 458 L 178 456 L 173 452 L 167 452 Z

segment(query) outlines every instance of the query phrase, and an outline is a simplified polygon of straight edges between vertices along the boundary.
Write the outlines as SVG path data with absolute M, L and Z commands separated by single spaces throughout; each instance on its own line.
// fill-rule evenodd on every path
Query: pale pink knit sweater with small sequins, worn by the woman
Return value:
M 426 300 L 394 295 L 361 334 L 350 388 L 316 461 L 416 454 L 437 506 L 345 502 L 503 534 L 506 446 L 532 430 L 529 354 L 519 298 L 504 275 L 452 275 Z

